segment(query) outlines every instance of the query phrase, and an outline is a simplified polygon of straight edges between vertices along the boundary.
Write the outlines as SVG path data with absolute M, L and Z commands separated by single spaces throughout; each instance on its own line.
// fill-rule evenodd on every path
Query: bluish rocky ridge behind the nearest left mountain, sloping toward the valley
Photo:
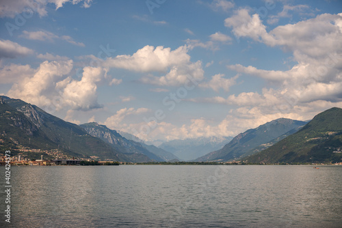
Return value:
M 125 133 L 125 132 L 116 132 L 116 130 L 111 130 L 107 128 L 105 125 L 100 125 L 95 122 L 88 124 L 81 124 L 82 128 L 84 128 L 88 134 L 91 134 L 94 137 L 98 137 L 109 143 L 114 148 L 118 149 L 118 151 L 124 153 L 129 158 L 136 160 L 136 154 L 144 154 L 148 156 L 151 160 L 155 161 L 167 161 L 172 159 L 177 159 L 176 156 L 171 154 L 170 152 L 166 152 L 163 149 L 159 149 L 154 145 L 146 145 L 142 140 L 133 136 L 133 134 Z M 126 137 L 122 137 L 124 134 Z M 131 140 L 135 139 L 135 140 Z M 134 155 L 133 155 L 134 154 Z M 133 157 L 134 156 L 134 157 Z M 139 162 L 147 162 L 148 160 L 138 160 Z

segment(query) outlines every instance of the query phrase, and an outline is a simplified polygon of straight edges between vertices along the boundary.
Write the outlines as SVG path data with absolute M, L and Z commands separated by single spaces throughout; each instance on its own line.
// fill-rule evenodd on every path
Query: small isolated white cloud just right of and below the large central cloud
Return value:
M 203 88 L 211 88 L 214 91 L 219 91 L 221 88 L 224 91 L 229 91 L 229 89 L 236 84 L 236 79 L 238 75 L 234 76 L 231 79 L 224 79 L 224 74 L 215 74 L 212 76 L 211 81 L 200 83 L 199 87 Z

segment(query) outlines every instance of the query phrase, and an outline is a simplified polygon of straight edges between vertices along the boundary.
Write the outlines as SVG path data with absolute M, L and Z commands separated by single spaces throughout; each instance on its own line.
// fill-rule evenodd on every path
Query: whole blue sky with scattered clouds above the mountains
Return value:
M 341 1 L 5 0 L 0 94 L 141 139 L 342 107 Z

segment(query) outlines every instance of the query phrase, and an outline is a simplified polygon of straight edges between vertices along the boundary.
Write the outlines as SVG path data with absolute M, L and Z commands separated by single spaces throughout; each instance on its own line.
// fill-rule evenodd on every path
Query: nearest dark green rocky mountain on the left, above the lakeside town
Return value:
M 103 159 L 131 161 L 118 150 L 96 137 L 87 134 L 86 130 L 65 122 L 33 104 L 23 100 L 0 96 L 0 146 L 11 149 L 42 149 L 46 152 L 58 150 L 68 156 L 89 158 L 98 156 Z M 46 152 L 25 152 L 30 158 L 53 158 Z

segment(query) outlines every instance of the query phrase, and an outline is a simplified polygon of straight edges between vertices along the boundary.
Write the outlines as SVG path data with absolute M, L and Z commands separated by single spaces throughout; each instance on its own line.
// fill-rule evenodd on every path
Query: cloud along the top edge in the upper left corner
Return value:
M 39 16 L 47 16 L 47 5 L 53 3 L 55 9 L 62 8 L 65 3 L 83 3 L 83 8 L 89 8 L 92 0 L 3 0 L 0 5 L 0 17 L 14 18 L 22 12 L 37 12 Z

